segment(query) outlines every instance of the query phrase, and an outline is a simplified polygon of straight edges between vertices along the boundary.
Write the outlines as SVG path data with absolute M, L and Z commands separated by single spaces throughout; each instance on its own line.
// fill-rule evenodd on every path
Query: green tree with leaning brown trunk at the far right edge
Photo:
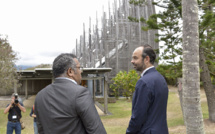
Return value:
M 203 12 L 200 21 L 200 68 L 201 80 L 205 89 L 208 103 L 209 120 L 215 122 L 215 94 L 211 77 L 215 70 L 215 1 L 201 0 L 200 8 Z

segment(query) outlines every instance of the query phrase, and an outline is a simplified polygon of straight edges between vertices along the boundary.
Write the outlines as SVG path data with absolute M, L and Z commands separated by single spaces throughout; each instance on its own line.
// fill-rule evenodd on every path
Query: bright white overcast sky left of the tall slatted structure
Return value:
M 7 35 L 16 65 L 52 64 L 75 48 L 85 28 L 101 20 L 114 0 L 0 0 L 0 34 Z M 100 22 L 99 22 L 100 23 Z

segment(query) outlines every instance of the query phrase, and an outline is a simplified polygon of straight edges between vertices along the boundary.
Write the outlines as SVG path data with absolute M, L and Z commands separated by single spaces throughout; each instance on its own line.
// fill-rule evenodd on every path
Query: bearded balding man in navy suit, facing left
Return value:
M 168 87 L 153 66 L 156 54 L 152 47 L 136 48 L 131 63 L 141 78 L 136 83 L 132 100 L 132 116 L 126 134 L 168 134 L 166 109 Z

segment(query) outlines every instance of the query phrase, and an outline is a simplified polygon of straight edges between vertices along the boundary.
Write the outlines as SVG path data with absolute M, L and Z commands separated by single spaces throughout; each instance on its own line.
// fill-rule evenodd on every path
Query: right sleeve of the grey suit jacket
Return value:
M 93 99 L 87 88 L 79 90 L 76 98 L 77 113 L 88 134 L 106 134 Z

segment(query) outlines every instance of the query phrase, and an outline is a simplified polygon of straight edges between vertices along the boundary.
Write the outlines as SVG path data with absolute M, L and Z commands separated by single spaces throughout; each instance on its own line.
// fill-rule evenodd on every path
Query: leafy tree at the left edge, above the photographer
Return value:
M 0 91 L 4 92 L 14 87 L 18 82 L 14 62 L 16 53 L 8 43 L 7 37 L 0 35 Z

